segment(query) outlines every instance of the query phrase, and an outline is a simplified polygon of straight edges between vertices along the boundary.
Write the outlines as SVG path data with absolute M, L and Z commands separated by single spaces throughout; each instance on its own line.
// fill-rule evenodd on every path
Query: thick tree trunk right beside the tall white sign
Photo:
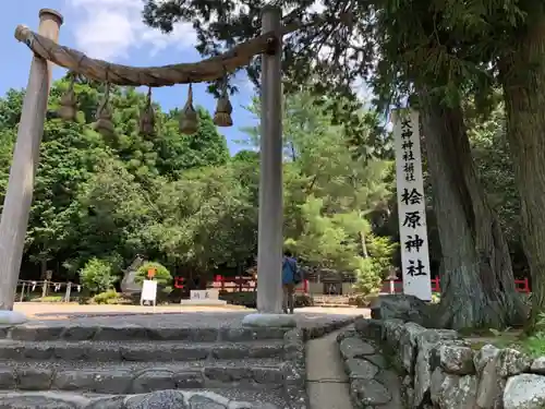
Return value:
M 439 323 L 501 328 L 520 323 L 511 260 L 471 155 L 461 109 L 422 97 L 422 127 L 443 249 Z

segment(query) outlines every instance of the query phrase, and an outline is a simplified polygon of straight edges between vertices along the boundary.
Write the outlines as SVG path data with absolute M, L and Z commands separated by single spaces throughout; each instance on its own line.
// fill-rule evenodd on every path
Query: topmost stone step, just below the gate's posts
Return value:
M 95 324 L 70 322 L 41 322 L 0 327 L 0 338 L 26 341 L 46 340 L 180 340 L 193 342 L 238 342 L 259 339 L 282 339 L 289 328 L 275 327 L 195 327 L 195 326 L 141 326 L 135 324 Z

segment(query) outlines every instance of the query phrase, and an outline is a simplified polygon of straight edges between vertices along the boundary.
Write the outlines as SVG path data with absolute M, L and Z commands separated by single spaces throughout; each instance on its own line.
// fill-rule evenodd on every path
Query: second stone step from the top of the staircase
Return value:
M 0 359 L 111 361 L 196 361 L 282 358 L 282 340 L 242 342 L 180 341 L 17 341 L 0 339 Z

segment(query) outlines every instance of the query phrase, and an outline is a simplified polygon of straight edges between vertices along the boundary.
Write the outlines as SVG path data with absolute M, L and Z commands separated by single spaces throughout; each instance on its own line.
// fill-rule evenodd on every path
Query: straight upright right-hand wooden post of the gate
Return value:
M 281 11 L 263 10 L 263 33 L 280 28 Z M 282 312 L 282 44 L 262 55 L 262 129 L 259 178 L 259 228 L 257 239 L 257 310 Z

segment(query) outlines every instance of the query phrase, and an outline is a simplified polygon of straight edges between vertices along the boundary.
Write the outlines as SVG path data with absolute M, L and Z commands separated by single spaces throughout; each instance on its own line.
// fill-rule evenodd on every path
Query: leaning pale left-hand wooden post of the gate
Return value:
M 39 12 L 38 33 L 58 40 L 62 15 L 55 10 Z M 13 310 L 23 257 L 34 179 L 44 134 L 51 64 L 34 57 L 10 169 L 10 179 L 0 220 L 0 310 Z

